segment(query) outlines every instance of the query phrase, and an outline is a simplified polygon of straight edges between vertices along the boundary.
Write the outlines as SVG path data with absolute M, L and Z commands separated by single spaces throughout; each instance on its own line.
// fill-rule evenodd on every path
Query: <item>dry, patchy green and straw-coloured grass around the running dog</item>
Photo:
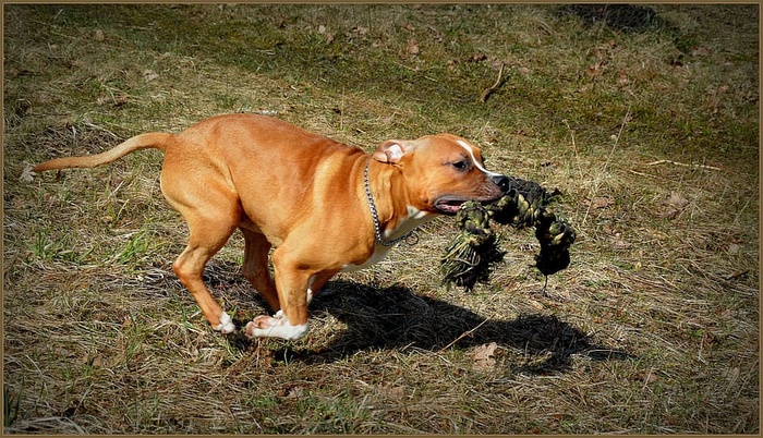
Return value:
M 5 5 L 4 431 L 760 433 L 759 9 L 629 8 Z M 564 193 L 572 264 L 542 293 L 507 229 L 491 283 L 448 289 L 443 218 L 329 282 L 305 339 L 245 341 L 172 273 L 160 153 L 20 179 L 241 111 L 471 138 Z M 241 257 L 205 280 L 244 321 Z

